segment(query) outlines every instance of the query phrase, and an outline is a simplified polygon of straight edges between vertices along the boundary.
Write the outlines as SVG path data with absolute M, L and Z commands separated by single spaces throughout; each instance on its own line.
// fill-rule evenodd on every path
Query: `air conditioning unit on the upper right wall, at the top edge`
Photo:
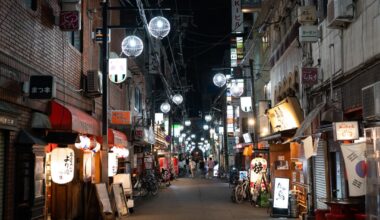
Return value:
M 345 28 L 354 19 L 354 3 L 352 0 L 329 0 L 327 3 L 327 27 Z

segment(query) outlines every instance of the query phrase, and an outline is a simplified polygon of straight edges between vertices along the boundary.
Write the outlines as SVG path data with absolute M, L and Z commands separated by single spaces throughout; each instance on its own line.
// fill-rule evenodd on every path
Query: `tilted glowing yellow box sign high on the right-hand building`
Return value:
M 302 110 L 295 97 L 287 97 L 269 109 L 268 117 L 274 132 L 298 128 L 303 121 Z

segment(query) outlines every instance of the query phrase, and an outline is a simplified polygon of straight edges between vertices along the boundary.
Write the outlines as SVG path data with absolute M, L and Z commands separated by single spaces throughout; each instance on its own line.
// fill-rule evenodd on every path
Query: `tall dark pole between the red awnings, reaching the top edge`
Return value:
M 102 7 L 102 148 L 100 151 L 101 182 L 108 185 L 108 2 L 103 0 Z

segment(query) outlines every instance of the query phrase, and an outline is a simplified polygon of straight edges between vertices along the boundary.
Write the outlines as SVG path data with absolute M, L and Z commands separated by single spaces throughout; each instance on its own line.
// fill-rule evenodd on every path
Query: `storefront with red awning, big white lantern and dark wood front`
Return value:
M 98 215 L 92 183 L 100 182 L 99 122 L 68 104 L 51 101 L 46 149 L 47 215 L 89 219 Z M 59 151 L 59 154 L 56 152 Z M 84 202 L 85 201 L 85 202 Z

